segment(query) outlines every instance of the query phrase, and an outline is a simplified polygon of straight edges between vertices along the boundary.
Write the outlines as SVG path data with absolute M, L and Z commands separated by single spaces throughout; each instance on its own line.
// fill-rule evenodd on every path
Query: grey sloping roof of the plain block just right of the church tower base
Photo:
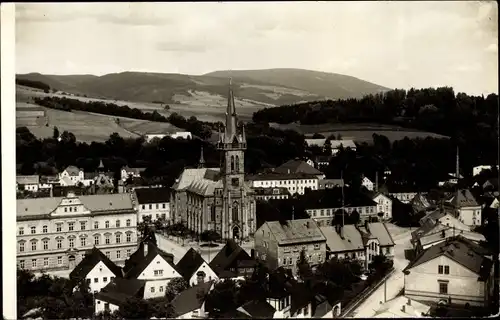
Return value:
M 278 245 L 292 243 L 326 241 L 318 225 L 313 219 L 267 221 L 265 224 L 278 242 Z

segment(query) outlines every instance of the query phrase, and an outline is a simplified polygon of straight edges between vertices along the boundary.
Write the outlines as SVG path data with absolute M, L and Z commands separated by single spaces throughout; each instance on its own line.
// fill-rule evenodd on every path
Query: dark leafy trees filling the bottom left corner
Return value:
M 86 281 L 77 285 L 69 279 L 41 275 L 24 269 L 17 270 L 17 315 L 18 319 L 32 312 L 31 317 L 43 319 L 91 318 L 93 296 Z

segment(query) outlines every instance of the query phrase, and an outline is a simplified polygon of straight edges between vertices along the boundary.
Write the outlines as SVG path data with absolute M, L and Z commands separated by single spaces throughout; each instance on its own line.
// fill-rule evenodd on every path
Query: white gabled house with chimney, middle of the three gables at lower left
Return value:
M 165 296 L 168 283 L 182 276 L 174 265 L 174 256 L 160 250 L 154 241 L 144 239 L 125 261 L 124 278 L 144 281 L 144 299 Z

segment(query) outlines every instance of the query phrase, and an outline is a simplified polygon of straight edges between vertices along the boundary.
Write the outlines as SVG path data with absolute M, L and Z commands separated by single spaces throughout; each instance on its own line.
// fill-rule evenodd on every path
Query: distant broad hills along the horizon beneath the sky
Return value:
M 252 109 L 327 98 L 360 97 L 386 90 L 354 77 L 299 69 L 216 71 L 202 76 L 145 72 L 103 76 L 17 75 L 18 79 L 40 81 L 58 91 L 93 98 L 161 101 L 196 105 L 198 108 L 221 104 L 227 97 L 229 77 L 233 78 L 234 94 L 242 107 L 247 105 Z

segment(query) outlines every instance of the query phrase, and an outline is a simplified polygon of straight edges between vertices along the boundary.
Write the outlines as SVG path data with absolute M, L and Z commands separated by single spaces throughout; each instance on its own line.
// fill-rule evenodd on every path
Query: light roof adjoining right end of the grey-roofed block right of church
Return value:
M 320 227 L 320 229 L 326 238 L 326 244 L 330 252 L 359 251 L 365 249 L 361 233 L 354 225 L 348 224 L 343 226 L 343 238 L 333 226 Z

